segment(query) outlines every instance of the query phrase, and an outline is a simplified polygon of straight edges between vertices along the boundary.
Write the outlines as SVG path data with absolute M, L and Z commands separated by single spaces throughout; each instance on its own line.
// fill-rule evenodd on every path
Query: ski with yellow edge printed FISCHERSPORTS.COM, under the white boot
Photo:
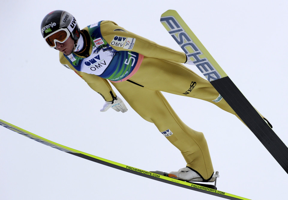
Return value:
M 168 183 L 168 184 L 171 184 L 171 185 L 176 185 L 178 187 L 183 187 L 183 188 L 187 188 L 187 189 L 190 189 L 190 190 L 195 190 L 197 192 L 202 192 L 202 193 L 206 193 L 206 194 L 209 194 L 209 195 L 218 196 L 218 197 L 221 197 L 221 198 L 224 198 L 224 199 L 249 200 L 249 199 L 246 199 L 246 198 L 243 198 L 243 197 L 240 197 L 240 196 L 236 196 L 236 195 L 233 195 L 233 194 L 229 194 L 229 193 L 217 190 L 216 187 L 209 187 L 206 184 L 196 184 L 196 183 L 192 183 L 192 182 L 180 181 L 180 180 L 165 176 L 165 174 L 161 175 L 161 174 L 159 174 L 157 172 L 153 173 L 153 172 L 145 171 L 145 170 L 142 170 L 142 169 L 138 169 L 136 167 L 124 165 L 124 164 L 113 162 L 111 160 L 107 160 L 107 159 L 104 159 L 104 158 L 101 158 L 101 157 L 98 157 L 98 156 L 87 154 L 85 152 L 78 151 L 76 149 L 71 149 L 69 147 L 63 146 L 61 144 L 52 142 L 52 141 L 47 140 L 47 139 L 45 139 L 43 137 L 35 135 L 35 134 L 33 134 L 33 133 L 29 132 L 29 131 L 26 131 L 26 130 L 24 130 L 22 128 L 14 126 L 14 125 L 12 125 L 12 124 L 10 124 L 8 122 L 3 121 L 2 119 L 0 119 L 0 125 L 5 127 L 5 128 L 10 129 L 11 131 L 14 131 L 16 133 L 24 135 L 24 136 L 26 136 L 26 137 L 28 137 L 28 138 L 30 138 L 32 140 L 35 140 L 35 141 L 37 141 L 39 143 L 45 144 L 47 146 L 50 146 L 50 147 L 52 147 L 54 149 L 58 149 L 60 151 L 66 152 L 68 154 L 72 154 L 72 155 L 75 155 L 75 156 L 78 156 L 78 157 L 85 158 L 87 160 L 91 160 L 91 161 L 96 162 L 96 163 L 100 163 L 100 164 L 103 164 L 103 165 L 106 165 L 106 166 L 109 166 L 109 167 L 113 167 L 115 169 L 120 169 L 122 171 L 129 172 L 129 173 L 136 174 L 136 175 L 140 175 L 140 176 L 143 176 L 143 177 L 146 177 L 146 178 L 154 179 L 156 181 L 161 181 L 161 182 Z M 162 173 L 164 173 L 164 172 L 162 172 Z

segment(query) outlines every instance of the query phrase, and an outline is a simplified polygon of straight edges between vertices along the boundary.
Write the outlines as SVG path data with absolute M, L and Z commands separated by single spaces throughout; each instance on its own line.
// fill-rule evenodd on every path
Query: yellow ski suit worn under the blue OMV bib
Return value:
M 88 31 L 88 28 L 85 27 L 84 30 Z M 133 51 L 143 55 L 139 69 L 128 80 L 111 82 L 98 75 L 76 70 L 61 52 L 60 62 L 74 70 L 106 101 L 113 101 L 113 96 L 116 96 L 110 86 L 110 83 L 113 84 L 143 119 L 154 123 L 158 130 L 181 151 L 187 162 L 186 166 L 198 172 L 205 180 L 211 178 L 214 169 L 203 133 L 185 125 L 161 91 L 202 99 L 234 115 L 235 112 L 207 80 L 181 64 L 186 62 L 186 55 L 183 52 L 160 46 L 125 30 L 112 21 L 102 21 L 100 30 L 103 39 L 116 51 Z M 115 36 L 134 39 L 134 46 L 132 49 L 124 49 L 119 45 L 113 45 Z M 90 42 L 89 54 L 91 54 L 94 44 L 91 40 L 87 41 Z M 77 52 L 74 53 L 77 55 Z

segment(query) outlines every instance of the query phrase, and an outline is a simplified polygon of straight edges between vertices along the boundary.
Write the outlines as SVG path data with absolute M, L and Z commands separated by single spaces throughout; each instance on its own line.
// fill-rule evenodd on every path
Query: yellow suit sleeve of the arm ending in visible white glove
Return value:
M 79 75 L 95 92 L 100 94 L 105 101 L 113 101 L 116 97 L 115 92 L 113 91 L 110 83 L 97 75 L 87 74 L 85 72 L 79 72 L 73 68 L 73 66 L 69 63 L 69 61 L 64 57 L 63 53 L 59 54 L 60 63 L 65 67 L 72 69 Z

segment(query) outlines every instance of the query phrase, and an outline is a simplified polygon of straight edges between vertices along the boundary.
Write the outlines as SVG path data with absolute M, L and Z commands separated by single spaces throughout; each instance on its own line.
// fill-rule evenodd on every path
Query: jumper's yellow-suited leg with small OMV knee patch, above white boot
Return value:
M 154 81 L 154 80 L 150 80 Z M 213 174 L 210 153 L 204 135 L 185 125 L 160 91 L 149 90 L 128 81 L 112 83 L 130 106 L 160 132 L 183 154 L 187 166 L 207 180 Z

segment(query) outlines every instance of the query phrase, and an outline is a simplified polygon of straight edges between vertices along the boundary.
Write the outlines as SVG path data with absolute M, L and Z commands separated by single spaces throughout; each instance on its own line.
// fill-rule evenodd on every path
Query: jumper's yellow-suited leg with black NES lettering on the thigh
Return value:
M 209 81 L 181 63 L 144 57 L 140 69 L 130 79 L 151 90 L 208 101 L 238 117 L 224 99 L 213 101 L 219 97 L 219 93 Z

